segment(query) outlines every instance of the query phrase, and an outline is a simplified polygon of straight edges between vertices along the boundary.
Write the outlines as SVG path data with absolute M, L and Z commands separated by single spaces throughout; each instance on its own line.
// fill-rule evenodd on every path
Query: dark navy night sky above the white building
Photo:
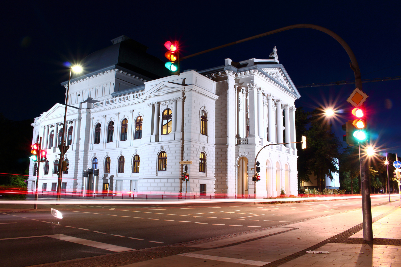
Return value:
M 64 103 L 67 80 L 63 62 L 79 62 L 91 52 L 126 35 L 166 60 L 163 44 L 179 40 L 182 55 L 298 23 L 326 27 L 354 51 L 363 79 L 401 75 L 400 1 L 8 1 L 3 3 L 2 97 L 8 119 L 39 116 Z M 170 5 L 169 5 L 170 4 Z M 332 37 L 294 29 L 215 50 L 182 61 L 182 70 L 268 58 L 277 46 L 280 64 L 295 85 L 353 80 L 349 58 Z M 401 153 L 399 115 L 401 80 L 364 83 L 371 142 Z M 354 85 L 299 88 L 296 107 L 312 110 L 333 104 L 333 128 L 352 117 L 346 102 Z M 36 107 L 32 103 L 36 102 Z M 343 112 L 341 112 L 341 110 Z M 344 143 L 345 145 L 345 143 Z M 400 154 L 401 155 L 401 154 Z

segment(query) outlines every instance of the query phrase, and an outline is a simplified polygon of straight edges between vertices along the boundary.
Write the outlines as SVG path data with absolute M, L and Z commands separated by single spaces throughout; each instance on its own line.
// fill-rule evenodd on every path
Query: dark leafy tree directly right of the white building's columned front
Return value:
M 318 189 L 323 191 L 326 176 L 333 179 L 332 173 L 338 173 L 337 158 L 340 142 L 332 131 L 332 124 L 324 121 L 321 108 L 312 112 L 297 108 L 296 122 L 297 120 L 299 125 L 296 126 L 297 132 L 299 131 L 297 134 L 302 135 L 303 132 L 308 142 L 307 149 L 298 150 L 299 179 L 301 181 L 309 179 L 313 173 L 317 177 Z

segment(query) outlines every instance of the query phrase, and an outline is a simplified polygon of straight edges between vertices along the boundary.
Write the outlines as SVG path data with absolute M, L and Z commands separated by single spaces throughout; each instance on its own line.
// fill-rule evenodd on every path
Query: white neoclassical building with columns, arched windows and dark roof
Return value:
M 83 60 L 86 74 L 71 79 L 63 191 L 176 195 L 186 184 L 180 161 L 192 161 L 191 195 L 253 195 L 256 153 L 270 143 L 295 142 L 300 94 L 277 50 L 269 59 L 227 58 L 222 66 L 171 75 L 146 46 L 126 36 L 111 41 Z M 42 137 L 48 152 L 40 191 L 57 188 L 64 109 L 57 103 L 32 123 L 32 142 Z M 295 144 L 267 147 L 257 161 L 257 196 L 281 189 L 298 195 Z M 86 177 L 88 168 L 98 169 L 98 177 Z M 31 162 L 30 189 L 36 171 Z

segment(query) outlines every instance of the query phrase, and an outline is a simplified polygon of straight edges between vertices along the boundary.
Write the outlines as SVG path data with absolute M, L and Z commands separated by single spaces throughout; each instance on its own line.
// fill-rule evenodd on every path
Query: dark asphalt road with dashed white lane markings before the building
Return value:
M 388 201 L 373 198 L 372 205 Z M 290 204 L 93 205 L 1 213 L 2 266 L 22 267 L 217 237 L 360 208 L 360 199 Z

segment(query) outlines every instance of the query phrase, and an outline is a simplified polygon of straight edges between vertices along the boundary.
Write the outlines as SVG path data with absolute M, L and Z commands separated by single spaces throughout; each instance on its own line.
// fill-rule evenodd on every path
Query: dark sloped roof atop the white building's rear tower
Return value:
M 117 39 L 121 41 L 116 41 Z M 111 41 L 113 45 L 93 52 L 81 61 L 85 74 L 73 75 L 71 78 L 87 76 L 89 73 L 97 70 L 103 71 L 105 68 L 113 66 L 132 70 L 148 80 L 171 75 L 164 67 L 162 60 L 146 53 L 147 46 L 126 36 L 120 36 Z

